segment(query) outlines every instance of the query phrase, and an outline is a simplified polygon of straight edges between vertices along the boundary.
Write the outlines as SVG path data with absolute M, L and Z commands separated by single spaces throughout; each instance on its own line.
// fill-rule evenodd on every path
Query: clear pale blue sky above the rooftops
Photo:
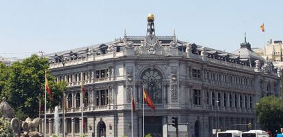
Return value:
M 247 33 L 252 47 L 283 40 L 283 2 L 278 1 L 0 1 L 0 56 L 27 57 L 146 35 L 154 14 L 157 35 L 232 52 Z M 266 32 L 260 31 L 265 23 Z

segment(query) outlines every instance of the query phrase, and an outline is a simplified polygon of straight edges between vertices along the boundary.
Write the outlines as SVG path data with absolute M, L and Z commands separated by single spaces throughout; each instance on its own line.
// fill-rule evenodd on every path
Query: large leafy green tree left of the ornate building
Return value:
M 7 97 L 8 103 L 16 110 L 16 115 L 20 119 L 25 119 L 27 116 L 38 117 L 39 97 L 42 106 L 44 104 L 45 71 L 54 98 L 54 101 L 51 102 L 48 93 L 46 93 L 46 107 L 54 108 L 59 104 L 66 84 L 55 82 L 55 77 L 51 76 L 48 68 L 48 59 L 38 57 L 38 55 L 31 55 L 22 62 L 16 62 L 10 66 L 8 70 L 10 74 L 5 80 L 1 96 Z

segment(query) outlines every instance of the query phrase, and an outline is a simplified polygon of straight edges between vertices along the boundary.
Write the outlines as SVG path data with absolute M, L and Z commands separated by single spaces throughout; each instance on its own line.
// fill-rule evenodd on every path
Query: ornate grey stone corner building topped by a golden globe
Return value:
M 98 137 L 131 136 L 132 126 L 134 136 L 142 137 L 143 86 L 156 107 L 145 108 L 145 131 L 158 137 L 173 116 L 187 123 L 189 136 L 194 137 L 212 136 L 215 128 L 237 128 L 232 124 L 251 122 L 254 127 L 258 98 L 280 95 L 280 71 L 277 74 L 271 63 L 176 40 L 175 33 L 157 36 L 151 17 L 146 36 L 125 33 L 113 42 L 46 55 L 53 76 L 62 81 L 64 74 L 68 83 L 67 136 L 79 136 L 82 130 L 82 80 L 86 89 L 83 130 L 87 136 Z M 53 110 L 47 117 L 51 135 Z

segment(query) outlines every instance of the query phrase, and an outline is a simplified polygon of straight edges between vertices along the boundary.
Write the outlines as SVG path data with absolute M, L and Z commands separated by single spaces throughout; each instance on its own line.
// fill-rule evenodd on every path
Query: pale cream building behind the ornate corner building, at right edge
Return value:
M 282 40 L 269 40 L 267 45 L 263 46 L 262 49 L 252 48 L 252 50 L 266 60 L 272 61 L 274 67 L 283 68 L 282 46 Z

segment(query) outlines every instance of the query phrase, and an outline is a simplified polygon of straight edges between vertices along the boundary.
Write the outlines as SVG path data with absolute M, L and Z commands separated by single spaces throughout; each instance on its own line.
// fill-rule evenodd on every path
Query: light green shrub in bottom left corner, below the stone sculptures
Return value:
M 13 137 L 16 136 L 10 128 L 9 121 L 0 118 L 0 137 Z

